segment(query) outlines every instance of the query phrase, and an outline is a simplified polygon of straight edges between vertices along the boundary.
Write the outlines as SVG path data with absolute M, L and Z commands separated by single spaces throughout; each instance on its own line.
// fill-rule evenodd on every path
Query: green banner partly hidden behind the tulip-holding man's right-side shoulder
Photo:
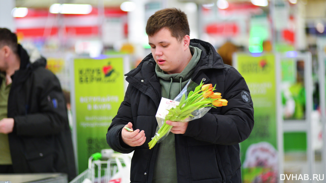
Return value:
M 276 78 L 273 54 L 236 54 L 235 67 L 244 77 L 254 104 L 254 128 L 240 144 L 244 183 L 277 182 Z

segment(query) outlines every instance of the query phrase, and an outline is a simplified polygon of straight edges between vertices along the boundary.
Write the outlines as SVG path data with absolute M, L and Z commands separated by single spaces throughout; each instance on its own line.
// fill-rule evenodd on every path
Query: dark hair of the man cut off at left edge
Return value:
M 17 35 L 7 28 L 0 28 L 0 48 L 8 46 L 15 54 L 18 55 Z

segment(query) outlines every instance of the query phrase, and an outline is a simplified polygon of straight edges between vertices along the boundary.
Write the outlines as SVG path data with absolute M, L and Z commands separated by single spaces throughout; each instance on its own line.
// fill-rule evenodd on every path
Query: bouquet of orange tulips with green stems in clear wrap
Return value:
M 148 143 L 149 148 L 153 148 L 157 142 L 163 140 L 170 132 L 173 126 L 166 124 L 167 120 L 171 121 L 191 121 L 204 116 L 211 107 L 227 106 L 228 101 L 221 98 L 221 93 L 214 92 L 215 86 L 212 84 L 200 85 L 189 80 L 185 88 L 171 102 L 169 113 L 165 116 L 163 125 L 156 130 L 155 136 Z M 194 90 L 192 90 L 195 87 Z M 190 91 L 190 92 L 188 92 Z M 173 107 L 171 107 L 173 106 Z

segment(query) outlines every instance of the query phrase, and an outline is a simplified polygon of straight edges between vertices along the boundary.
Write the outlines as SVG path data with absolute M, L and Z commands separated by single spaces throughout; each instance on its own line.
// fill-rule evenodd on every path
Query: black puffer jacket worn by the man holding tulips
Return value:
M 175 134 L 175 152 L 178 183 L 241 182 L 239 143 L 244 141 L 254 126 L 253 103 L 244 78 L 236 69 L 222 62 L 214 47 L 192 39 L 191 46 L 202 50 L 192 80 L 204 78 L 205 84 L 216 84 L 216 91 L 227 99 L 228 106 L 212 108 L 202 118 L 190 121 L 185 134 Z M 156 63 L 148 55 L 126 80 L 129 86 L 118 114 L 108 129 L 107 141 L 121 153 L 134 150 L 130 180 L 152 182 L 157 148 L 148 148 L 156 131 L 156 111 L 161 99 Z M 127 146 L 121 139 L 121 130 L 128 122 L 134 129 L 144 130 L 146 142 L 139 147 Z

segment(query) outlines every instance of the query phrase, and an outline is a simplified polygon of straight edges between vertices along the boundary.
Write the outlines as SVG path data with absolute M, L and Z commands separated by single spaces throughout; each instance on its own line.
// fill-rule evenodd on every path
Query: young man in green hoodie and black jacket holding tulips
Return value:
M 130 181 L 241 182 L 239 143 L 254 125 L 253 103 L 244 78 L 223 64 L 211 44 L 190 40 L 187 17 L 179 9 L 157 11 L 148 19 L 146 33 L 152 53 L 126 74 L 125 99 L 107 133 L 113 150 L 134 151 Z M 149 149 L 161 97 L 174 99 L 189 79 L 216 84 L 228 105 L 212 108 L 197 120 L 166 121 L 173 126 L 171 133 Z

